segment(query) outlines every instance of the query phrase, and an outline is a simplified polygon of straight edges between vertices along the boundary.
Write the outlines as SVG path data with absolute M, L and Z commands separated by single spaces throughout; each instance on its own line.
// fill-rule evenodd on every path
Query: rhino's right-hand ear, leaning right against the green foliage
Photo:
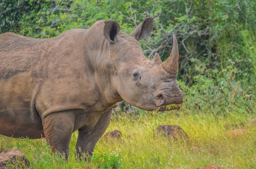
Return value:
M 145 39 L 151 33 L 154 26 L 154 18 L 146 17 L 140 25 L 138 25 L 134 31 L 131 32 L 131 36 L 137 40 Z

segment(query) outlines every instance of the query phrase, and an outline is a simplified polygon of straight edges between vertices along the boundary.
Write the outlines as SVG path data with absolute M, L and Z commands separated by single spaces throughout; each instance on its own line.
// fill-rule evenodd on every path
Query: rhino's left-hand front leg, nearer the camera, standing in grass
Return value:
M 70 111 L 57 112 L 42 119 L 44 135 L 52 152 L 64 154 L 67 160 L 69 155 L 70 138 L 74 130 L 75 115 Z

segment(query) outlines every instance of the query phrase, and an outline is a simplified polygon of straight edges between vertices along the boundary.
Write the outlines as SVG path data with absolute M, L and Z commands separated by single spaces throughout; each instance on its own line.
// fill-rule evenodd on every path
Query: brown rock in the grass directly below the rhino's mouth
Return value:
M 189 136 L 184 132 L 184 130 L 178 125 L 160 125 L 157 127 L 156 131 L 162 133 L 166 138 L 171 138 L 174 140 L 183 139 L 189 140 Z

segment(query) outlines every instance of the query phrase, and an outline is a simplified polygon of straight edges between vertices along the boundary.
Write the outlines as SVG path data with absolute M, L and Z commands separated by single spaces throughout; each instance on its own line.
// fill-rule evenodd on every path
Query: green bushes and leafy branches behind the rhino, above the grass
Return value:
M 36 38 L 90 28 L 97 20 L 116 20 L 129 34 L 144 17 L 153 16 L 151 37 L 141 41 L 143 52 L 150 59 L 158 52 L 165 60 L 176 34 L 178 79 L 187 106 L 219 112 L 255 109 L 254 0 L 4 0 L 0 9 L 0 32 Z

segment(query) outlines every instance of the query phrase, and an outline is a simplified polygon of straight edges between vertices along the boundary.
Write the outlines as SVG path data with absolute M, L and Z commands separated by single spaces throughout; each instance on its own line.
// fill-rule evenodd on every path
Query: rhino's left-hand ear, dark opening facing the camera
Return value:
M 110 42 L 115 42 L 116 40 L 116 35 L 120 31 L 120 26 L 116 21 L 110 20 L 110 21 L 105 21 L 105 26 L 104 26 L 104 37 L 108 39 Z

